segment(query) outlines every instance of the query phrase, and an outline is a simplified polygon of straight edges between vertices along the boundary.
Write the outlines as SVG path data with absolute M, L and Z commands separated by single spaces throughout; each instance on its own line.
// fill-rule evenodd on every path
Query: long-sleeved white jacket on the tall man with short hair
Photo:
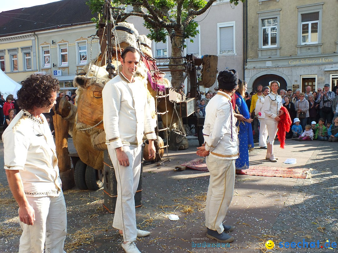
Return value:
M 139 81 L 129 83 L 122 77 L 114 77 L 102 90 L 106 144 L 113 148 L 139 146 L 143 134 L 148 139 L 156 139 L 146 88 Z

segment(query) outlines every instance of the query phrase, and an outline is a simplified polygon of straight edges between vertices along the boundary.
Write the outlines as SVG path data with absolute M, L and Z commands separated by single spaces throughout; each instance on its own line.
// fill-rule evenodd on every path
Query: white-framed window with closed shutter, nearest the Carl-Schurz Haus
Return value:
M 235 55 L 235 21 L 217 24 L 218 55 Z

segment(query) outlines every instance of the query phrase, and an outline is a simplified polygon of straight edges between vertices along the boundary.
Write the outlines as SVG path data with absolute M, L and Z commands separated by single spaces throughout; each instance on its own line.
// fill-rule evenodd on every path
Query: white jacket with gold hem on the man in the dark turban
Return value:
M 236 117 L 231 104 L 231 97 L 222 91 L 217 91 L 206 106 L 206 118 L 203 126 L 203 136 L 209 156 L 223 160 L 233 160 L 239 157 Z

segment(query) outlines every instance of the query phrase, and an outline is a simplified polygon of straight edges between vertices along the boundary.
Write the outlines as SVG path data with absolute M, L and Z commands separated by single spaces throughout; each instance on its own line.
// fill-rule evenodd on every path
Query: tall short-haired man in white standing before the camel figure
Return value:
M 147 104 L 146 88 L 134 79 L 140 53 L 127 47 L 121 54 L 122 71 L 102 90 L 103 126 L 106 144 L 117 180 L 117 200 L 113 227 L 123 234 L 122 248 L 127 253 L 140 253 L 137 236 L 150 232 L 136 228 L 134 195 L 141 172 L 141 145 L 145 134 L 149 140 L 149 158 L 155 157 L 155 130 Z

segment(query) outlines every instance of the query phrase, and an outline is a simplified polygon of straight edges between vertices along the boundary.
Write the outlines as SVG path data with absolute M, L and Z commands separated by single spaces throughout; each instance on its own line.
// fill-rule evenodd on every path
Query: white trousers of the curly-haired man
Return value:
M 67 212 L 63 193 L 52 197 L 27 197 L 35 213 L 34 225 L 20 221 L 23 230 L 19 253 L 66 253 Z

